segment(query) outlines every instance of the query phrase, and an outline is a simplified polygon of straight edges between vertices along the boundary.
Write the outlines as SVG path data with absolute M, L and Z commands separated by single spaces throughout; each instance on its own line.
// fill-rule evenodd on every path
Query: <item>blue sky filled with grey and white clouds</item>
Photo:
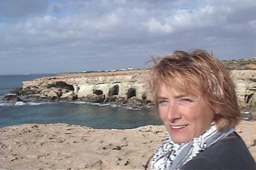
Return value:
M 254 57 L 254 0 L 0 0 L 0 74 L 143 68 L 190 49 Z

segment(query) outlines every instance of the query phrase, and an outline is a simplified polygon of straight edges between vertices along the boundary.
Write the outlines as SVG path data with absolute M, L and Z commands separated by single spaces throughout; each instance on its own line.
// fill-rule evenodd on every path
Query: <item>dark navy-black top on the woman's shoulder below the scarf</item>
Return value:
M 242 138 L 225 138 L 199 153 L 181 169 L 256 169 L 255 161 Z

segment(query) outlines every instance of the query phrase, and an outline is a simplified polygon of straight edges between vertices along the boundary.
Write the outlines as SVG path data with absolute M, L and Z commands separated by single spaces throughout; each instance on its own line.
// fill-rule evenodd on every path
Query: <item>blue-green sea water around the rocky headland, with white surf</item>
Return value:
M 56 74 L 0 75 L 0 98 L 22 86 L 22 81 Z M 131 129 L 162 121 L 154 111 L 109 103 L 17 102 L 0 103 L 0 127 L 25 123 L 68 123 L 97 129 Z

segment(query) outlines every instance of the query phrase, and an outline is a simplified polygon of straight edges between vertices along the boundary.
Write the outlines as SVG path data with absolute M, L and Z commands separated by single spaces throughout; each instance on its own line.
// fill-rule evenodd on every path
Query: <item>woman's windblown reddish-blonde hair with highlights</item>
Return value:
M 152 60 L 150 91 L 158 111 L 157 94 L 162 84 L 187 94 L 200 92 L 214 111 L 219 131 L 234 127 L 241 120 L 233 82 L 222 64 L 204 50 L 175 51 Z

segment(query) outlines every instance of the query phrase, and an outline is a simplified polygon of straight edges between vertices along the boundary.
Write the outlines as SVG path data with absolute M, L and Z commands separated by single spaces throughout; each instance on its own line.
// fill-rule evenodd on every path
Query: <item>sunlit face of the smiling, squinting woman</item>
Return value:
M 198 137 L 213 121 L 214 112 L 200 93 L 192 96 L 162 85 L 157 100 L 160 117 L 175 143 Z

